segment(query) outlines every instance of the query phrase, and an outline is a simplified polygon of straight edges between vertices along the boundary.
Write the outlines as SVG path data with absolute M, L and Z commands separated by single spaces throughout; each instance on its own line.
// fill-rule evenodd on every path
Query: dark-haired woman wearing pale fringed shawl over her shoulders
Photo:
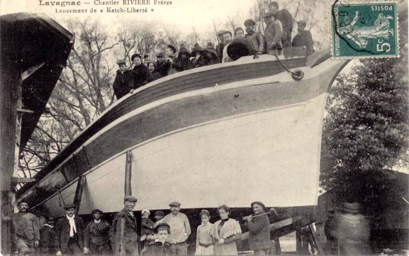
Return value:
M 214 255 L 237 255 L 236 241 L 240 237 L 241 228 L 236 220 L 228 218 L 230 208 L 219 206 L 221 220 L 214 224 L 212 236 L 214 239 Z

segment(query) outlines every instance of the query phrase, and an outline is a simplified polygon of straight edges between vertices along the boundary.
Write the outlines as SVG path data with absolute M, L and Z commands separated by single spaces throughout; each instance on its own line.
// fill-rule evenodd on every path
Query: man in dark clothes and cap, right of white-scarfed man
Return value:
M 94 209 L 91 212 L 93 221 L 88 223 L 84 231 L 84 245 L 90 249 L 93 255 L 109 255 L 111 254 L 111 245 L 109 233 L 111 225 L 101 219 L 103 212 L 99 209 Z

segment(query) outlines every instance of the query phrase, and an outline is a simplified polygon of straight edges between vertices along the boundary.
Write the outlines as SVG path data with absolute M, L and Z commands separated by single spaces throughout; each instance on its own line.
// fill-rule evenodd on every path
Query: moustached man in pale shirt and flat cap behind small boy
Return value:
M 170 226 L 170 235 L 167 241 L 170 243 L 172 255 L 187 255 L 186 240 L 191 230 L 187 216 L 181 212 L 180 202 L 171 202 L 169 204 L 171 213 L 166 215 L 162 220 L 156 222 L 155 226 L 160 223 L 166 223 Z

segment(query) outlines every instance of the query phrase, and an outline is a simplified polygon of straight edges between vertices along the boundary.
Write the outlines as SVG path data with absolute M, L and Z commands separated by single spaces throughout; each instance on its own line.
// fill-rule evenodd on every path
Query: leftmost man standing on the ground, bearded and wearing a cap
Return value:
M 20 201 L 18 207 L 20 211 L 15 213 L 12 218 L 13 241 L 19 255 L 33 254 L 40 240 L 38 218 L 28 212 L 29 204 L 27 201 Z

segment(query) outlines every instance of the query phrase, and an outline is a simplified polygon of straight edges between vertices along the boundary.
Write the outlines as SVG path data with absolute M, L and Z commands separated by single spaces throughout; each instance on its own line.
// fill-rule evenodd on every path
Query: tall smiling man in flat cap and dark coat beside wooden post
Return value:
M 113 217 L 110 238 L 114 254 L 140 255 L 136 218 L 132 212 L 137 201 L 138 199 L 132 195 L 125 196 L 123 199 L 124 208 Z M 124 223 L 123 239 L 121 239 L 119 229 L 121 222 Z M 120 241 L 122 241 L 122 244 L 120 244 Z

